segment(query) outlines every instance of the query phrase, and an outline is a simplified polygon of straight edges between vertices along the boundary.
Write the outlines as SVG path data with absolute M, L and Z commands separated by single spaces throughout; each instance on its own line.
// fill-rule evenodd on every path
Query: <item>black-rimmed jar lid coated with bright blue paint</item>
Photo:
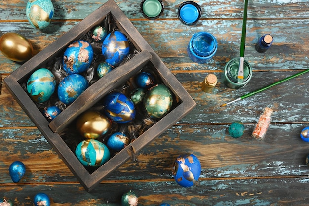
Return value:
M 202 9 L 193 1 L 185 1 L 178 7 L 177 16 L 186 25 L 196 24 L 202 15 Z

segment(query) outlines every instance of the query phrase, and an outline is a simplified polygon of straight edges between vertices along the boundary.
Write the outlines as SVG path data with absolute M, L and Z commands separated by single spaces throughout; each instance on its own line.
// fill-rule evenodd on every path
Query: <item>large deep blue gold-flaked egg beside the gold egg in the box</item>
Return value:
M 116 123 L 128 123 L 135 118 L 135 107 L 131 99 L 120 92 L 112 92 L 103 99 L 104 113 Z

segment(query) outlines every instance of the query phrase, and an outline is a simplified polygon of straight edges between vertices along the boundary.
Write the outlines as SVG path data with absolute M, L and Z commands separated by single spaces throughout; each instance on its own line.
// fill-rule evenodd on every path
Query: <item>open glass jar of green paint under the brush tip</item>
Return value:
M 246 85 L 252 77 L 252 68 L 247 60 L 243 62 L 243 82 L 238 83 L 239 57 L 233 58 L 224 67 L 222 82 L 231 89 L 239 89 Z

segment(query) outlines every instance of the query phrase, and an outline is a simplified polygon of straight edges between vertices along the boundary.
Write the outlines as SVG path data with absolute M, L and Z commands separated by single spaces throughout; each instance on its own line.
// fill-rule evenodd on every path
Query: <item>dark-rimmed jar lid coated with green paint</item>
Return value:
M 159 18 L 164 11 L 162 0 L 142 0 L 141 13 L 145 18 L 154 20 Z

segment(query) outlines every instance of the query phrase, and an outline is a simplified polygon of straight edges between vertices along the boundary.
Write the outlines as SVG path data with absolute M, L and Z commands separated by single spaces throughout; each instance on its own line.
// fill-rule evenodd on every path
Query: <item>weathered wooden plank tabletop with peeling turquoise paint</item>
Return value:
M 2 1 L 0 32 L 17 32 L 29 39 L 37 54 L 51 42 L 100 7 L 106 0 L 52 0 L 53 21 L 44 31 L 27 21 L 27 0 Z M 307 206 L 309 167 L 305 157 L 309 143 L 300 138 L 309 125 L 308 74 L 271 89 L 220 107 L 243 94 L 309 68 L 309 3 L 307 0 L 249 1 L 245 59 L 253 77 L 243 88 L 233 90 L 221 81 L 222 69 L 239 56 L 243 1 L 196 1 L 202 8 L 194 26 L 177 18 L 180 0 L 164 0 L 164 15 L 151 21 L 139 11 L 140 2 L 116 0 L 121 10 L 149 42 L 197 105 L 180 122 L 151 142 L 106 180 L 86 192 L 8 93 L 3 79 L 20 65 L 0 54 L 0 198 L 16 206 L 32 206 L 38 192 L 51 198 L 52 206 L 121 205 L 129 189 L 139 196 L 139 205 L 158 206 Z M 199 31 L 213 34 L 218 51 L 206 64 L 192 62 L 186 47 Z M 255 43 L 265 33 L 274 44 L 261 54 Z M 201 91 L 207 74 L 219 82 L 213 93 Z M 265 107 L 274 111 L 264 141 L 251 137 Z M 245 124 L 241 138 L 229 136 L 229 125 Z M 175 183 L 172 165 L 182 153 L 195 154 L 202 165 L 196 185 L 183 188 Z M 9 165 L 22 161 L 27 172 L 13 183 Z

